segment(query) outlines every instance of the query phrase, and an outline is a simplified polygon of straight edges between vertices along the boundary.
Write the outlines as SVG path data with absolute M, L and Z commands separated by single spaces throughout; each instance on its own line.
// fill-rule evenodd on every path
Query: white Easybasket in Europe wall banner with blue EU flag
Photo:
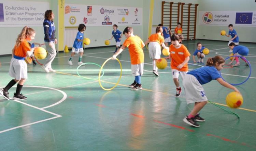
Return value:
M 199 25 L 256 27 L 256 11 L 199 11 Z

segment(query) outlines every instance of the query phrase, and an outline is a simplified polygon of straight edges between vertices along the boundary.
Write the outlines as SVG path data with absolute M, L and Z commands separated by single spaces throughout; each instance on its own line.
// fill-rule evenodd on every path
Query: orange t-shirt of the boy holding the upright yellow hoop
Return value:
M 139 36 L 131 36 L 125 40 L 123 45 L 128 47 L 131 56 L 131 64 L 141 64 L 144 63 L 144 52 L 142 50 L 143 41 Z

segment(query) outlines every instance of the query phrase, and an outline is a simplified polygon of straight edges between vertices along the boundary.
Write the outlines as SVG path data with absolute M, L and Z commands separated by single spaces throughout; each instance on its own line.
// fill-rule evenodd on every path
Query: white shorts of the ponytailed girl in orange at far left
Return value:
M 16 80 L 28 79 L 28 66 L 24 60 L 12 58 L 9 75 Z

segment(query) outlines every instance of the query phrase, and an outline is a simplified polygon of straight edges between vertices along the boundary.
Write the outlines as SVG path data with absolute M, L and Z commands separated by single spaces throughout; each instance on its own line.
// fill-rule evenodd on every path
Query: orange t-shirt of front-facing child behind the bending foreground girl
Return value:
M 188 71 L 187 63 L 181 68 L 178 69 L 177 66 L 182 64 L 185 61 L 185 58 L 190 56 L 187 48 L 181 44 L 180 48 L 175 48 L 173 45 L 170 45 L 170 55 L 171 55 L 171 68 L 179 71 Z

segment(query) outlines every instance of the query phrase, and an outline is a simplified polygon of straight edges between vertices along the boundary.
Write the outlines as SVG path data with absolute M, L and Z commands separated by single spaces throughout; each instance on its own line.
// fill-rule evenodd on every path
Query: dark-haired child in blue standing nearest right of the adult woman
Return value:
M 77 34 L 76 34 L 76 38 L 75 38 L 75 41 L 74 41 L 74 44 L 73 44 L 71 55 L 70 55 L 70 58 L 69 58 L 69 61 L 68 61 L 69 65 L 73 65 L 72 58 L 73 58 L 75 53 L 77 53 L 77 54 L 80 53 L 77 64 L 78 65 L 83 64 L 82 57 L 83 57 L 83 53 L 84 53 L 83 40 L 84 40 L 84 31 L 85 31 L 85 29 L 86 29 L 86 26 L 83 23 L 78 26 L 78 31 L 79 32 L 77 32 Z

